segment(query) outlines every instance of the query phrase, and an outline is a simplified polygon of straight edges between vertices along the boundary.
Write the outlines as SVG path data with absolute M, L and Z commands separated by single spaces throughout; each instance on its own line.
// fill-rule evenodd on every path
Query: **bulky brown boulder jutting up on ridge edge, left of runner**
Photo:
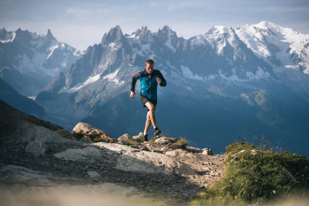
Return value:
M 78 140 L 82 137 L 88 137 L 93 142 L 117 142 L 116 138 L 108 135 L 106 132 L 82 122 L 78 123 L 71 133 Z

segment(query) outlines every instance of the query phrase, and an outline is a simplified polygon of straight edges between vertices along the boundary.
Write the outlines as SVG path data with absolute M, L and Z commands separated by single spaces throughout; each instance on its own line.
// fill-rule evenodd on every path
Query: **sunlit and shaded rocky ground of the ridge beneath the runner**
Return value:
M 0 197 L 9 204 L 46 195 L 54 196 L 50 205 L 65 205 L 69 200 L 59 196 L 70 199 L 69 191 L 73 196 L 86 191 L 79 198 L 87 194 L 83 200 L 94 195 L 95 202 L 113 197 L 124 203 L 186 205 L 224 173 L 225 155 L 177 143 L 176 138 L 139 142 L 139 135 L 125 134 L 115 139 L 84 123 L 70 133 L 39 119 L 29 121 L 12 108 L 1 114 L 0 121 L 8 125 L 2 125 L 1 133 Z

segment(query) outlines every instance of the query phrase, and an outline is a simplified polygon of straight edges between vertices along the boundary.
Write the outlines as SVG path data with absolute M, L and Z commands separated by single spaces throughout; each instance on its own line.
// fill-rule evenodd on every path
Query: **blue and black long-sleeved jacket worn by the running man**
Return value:
M 160 86 L 166 86 L 166 81 L 159 70 L 154 69 L 149 74 L 146 69 L 138 72 L 132 78 L 131 91 L 135 91 L 136 81 L 140 80 L 140 93 L 149 100 L 157 100 L 157 77 L 161 79 Z

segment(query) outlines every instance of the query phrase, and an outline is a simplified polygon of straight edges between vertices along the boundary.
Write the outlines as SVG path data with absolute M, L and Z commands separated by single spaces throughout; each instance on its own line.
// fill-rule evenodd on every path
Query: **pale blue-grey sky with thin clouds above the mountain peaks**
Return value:
M 81 51 L 99 43 L 116 25 L 131 34 L 147 26 L 157 32 L 168 25 L 178 36 L 204 34 L 214 25 L 237 28 L 270 21 L 309 33 L 308 0 L 84 1 L 0 0 L 0 27 L 47 33 Z

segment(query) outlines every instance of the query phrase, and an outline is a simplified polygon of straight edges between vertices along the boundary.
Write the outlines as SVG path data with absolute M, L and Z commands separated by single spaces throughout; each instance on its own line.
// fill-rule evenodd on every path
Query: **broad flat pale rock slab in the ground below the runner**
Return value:
M 94 145 L 122 154 L 117 156 L 116 168 L 119 170 L 167 175 L 195 174 L 186 164 L 161 153 L 141 151 L 122 144 L 98 142 Z

